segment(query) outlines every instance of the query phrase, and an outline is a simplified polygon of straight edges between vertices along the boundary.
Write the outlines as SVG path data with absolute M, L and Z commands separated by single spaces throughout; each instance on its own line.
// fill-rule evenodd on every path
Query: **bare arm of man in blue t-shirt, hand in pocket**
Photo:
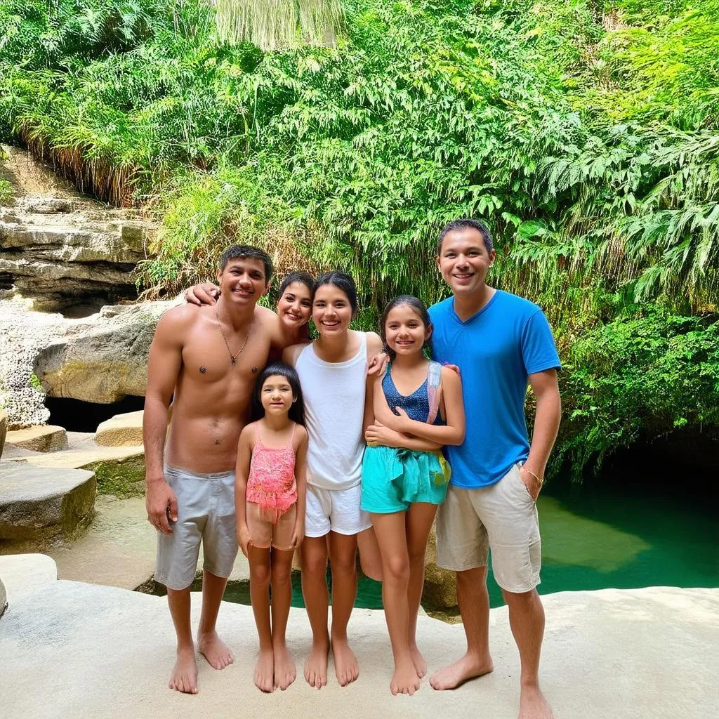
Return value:
M 559 420 L 562 418 L 562 398 L 559 396 L 557 370 L 535 372 L 529 375 L 529 384 L 537 398 L 537 412 L 529 457 L 521 467 L 520 475 L 529 493 L 536 499 L 544 482 L 544 470 L 551 448 L 557 439 Z M 541 481 L 538 482 L 532 475 L 537 475 Z

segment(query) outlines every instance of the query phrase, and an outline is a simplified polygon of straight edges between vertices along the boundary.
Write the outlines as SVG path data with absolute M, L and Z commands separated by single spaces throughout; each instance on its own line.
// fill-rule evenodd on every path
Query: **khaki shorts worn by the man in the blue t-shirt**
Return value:
M 497 584 L 516 594 L 539 584 L 541 539 L 534 500 L 519 476 L 519 464 L 489 487 L 450 485 L 437 512 L 437 564 L 463 572 L 487 565 Z

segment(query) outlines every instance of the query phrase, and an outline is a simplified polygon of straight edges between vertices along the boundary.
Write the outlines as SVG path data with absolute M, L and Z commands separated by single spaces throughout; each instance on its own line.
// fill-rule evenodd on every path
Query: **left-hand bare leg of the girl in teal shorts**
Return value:
M 372 514 L 382 556 L 382 603 L 395 659 L 395 673 L 390 680 L 390 692 L 394 695 L 412 695 L 419 689 L 419 677 L 409 651 L 410 569 L 405 517 L 404 512 Z

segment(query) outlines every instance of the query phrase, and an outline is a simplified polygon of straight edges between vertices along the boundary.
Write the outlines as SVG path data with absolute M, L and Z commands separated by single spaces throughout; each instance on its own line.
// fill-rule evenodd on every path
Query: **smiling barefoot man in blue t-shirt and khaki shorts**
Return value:
M 467 436 L 446 447 L 452 483 L 437 515 L 437 563 L 457 572 L 467 653 L 431 679 L 454 689 L 493 669 L 489 650 L 487 554 L 509 606 L 521 659 L 520 718 L 551 717 L 539 689 L 544 609 L 539 584 L 541 541 L 536 498 L 557 438 L 559 356 L 549 323 L 535 304 L 485 282 L 495 260 L 482 222 L 449 223 L 437 265 L 452 297 L 429 308 L 432 354 L 459 367 Z M 536 396 L 531 444 L 524 418 L 527 386 Z

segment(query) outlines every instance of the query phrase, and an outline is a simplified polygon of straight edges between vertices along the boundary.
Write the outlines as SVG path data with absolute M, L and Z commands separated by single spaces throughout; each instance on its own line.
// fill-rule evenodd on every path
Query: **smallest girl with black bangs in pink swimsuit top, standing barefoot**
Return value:
M 260 638 L 255 684 L 272 692 L 287 689 L 296 677 L 285 628 L 292 557 L 305 533 L 307 431 L 292 367 L 274 362 L 265 368 L 252 395 L 252 419 L 237 448 L 237 542 L 249 559 L 249 595 Z

